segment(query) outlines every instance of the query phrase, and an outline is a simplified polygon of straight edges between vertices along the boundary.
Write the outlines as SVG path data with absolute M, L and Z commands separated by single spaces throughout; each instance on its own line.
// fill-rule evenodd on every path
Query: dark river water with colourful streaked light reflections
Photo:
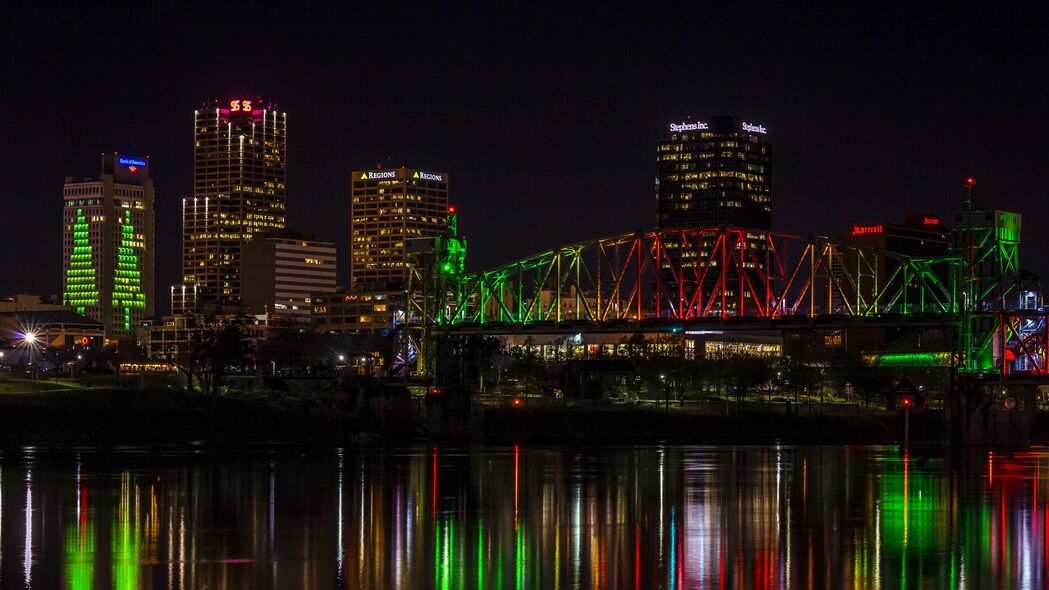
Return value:
M 0 588 L 1044 588 L 1049 454 L 0 450 Z

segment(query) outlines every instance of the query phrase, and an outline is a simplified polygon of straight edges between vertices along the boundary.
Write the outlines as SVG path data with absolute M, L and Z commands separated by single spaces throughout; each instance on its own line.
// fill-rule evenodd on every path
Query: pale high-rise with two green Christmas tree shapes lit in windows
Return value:
M 153 315 L 153 181 L 149 160 L 102 155 L 98 178 L 66 177 L 63 303 L 130 339 Z

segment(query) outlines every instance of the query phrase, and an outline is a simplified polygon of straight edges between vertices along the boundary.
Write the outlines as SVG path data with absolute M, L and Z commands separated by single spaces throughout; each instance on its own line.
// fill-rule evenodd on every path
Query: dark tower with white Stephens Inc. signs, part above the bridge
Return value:
M 736 117 L 667 125 L 657 147 L 657 227 L 772 229 L 766 133 L 763 125 Z

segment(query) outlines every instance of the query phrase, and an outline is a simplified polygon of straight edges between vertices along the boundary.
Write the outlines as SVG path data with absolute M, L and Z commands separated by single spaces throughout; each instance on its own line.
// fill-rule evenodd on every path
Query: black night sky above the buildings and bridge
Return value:
M 652 226 L 664 126 L 718 113 L 769 129 L 777 230 L 947 218 L 972 175 L 1049 275 L 1045 2 L 39 4 L 3 9 L 0 295 L 61 291 L 63 178 L 121 151 L 151 157 L 167 310 L 193 110 L 241 94 L 287 111 L 288 224 L 338 244 L 342 285 L 352 169 L 450 173 L 479 270 Z

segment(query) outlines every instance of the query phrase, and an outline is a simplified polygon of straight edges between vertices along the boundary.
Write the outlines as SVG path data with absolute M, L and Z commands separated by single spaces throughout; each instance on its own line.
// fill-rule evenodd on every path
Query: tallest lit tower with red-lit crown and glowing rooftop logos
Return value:
M 198 302 L 239 302 L 241 245 L 257 232 L 284 227 L 286 122 L 276 104 L 258 98 L 213 100 L 193 112 L 183 282 Z

